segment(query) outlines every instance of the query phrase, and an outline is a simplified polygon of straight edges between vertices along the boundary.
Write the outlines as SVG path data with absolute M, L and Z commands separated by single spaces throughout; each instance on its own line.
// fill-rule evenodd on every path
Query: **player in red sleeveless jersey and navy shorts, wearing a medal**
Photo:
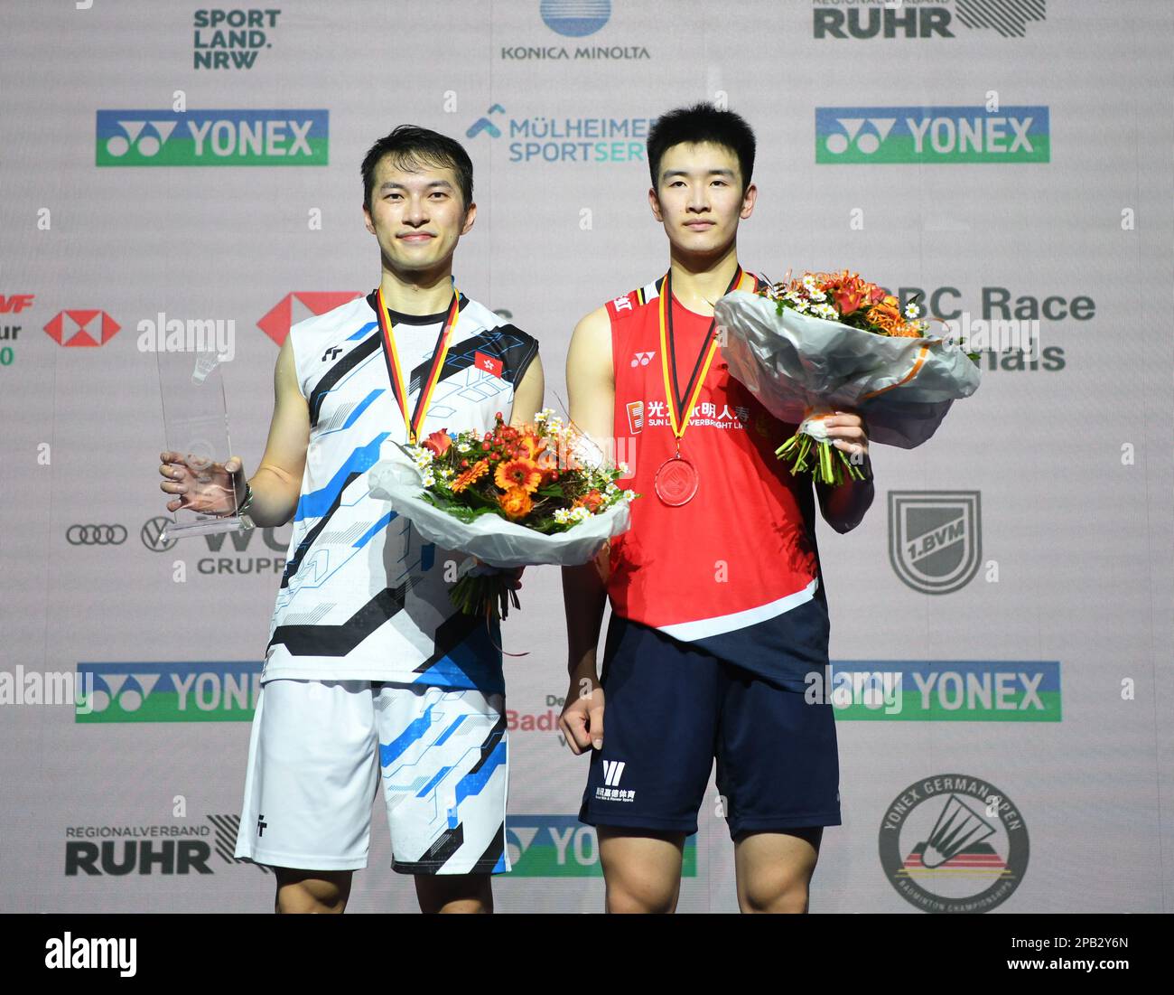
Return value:
M 825 422 L 865 479 L 812 493 L 775 457 L 795 426 L 722 362 L 714 302 L 762 283 L 736 246 L 757 196 L 754 149 L 729 110 L 657 120 L 648 201 L 668 273 L 580 321 L 567 357 L 571 417 L 614 441 L 621 484 L 642 495 L 606 579 L 594 565 L 564 569 L 560 726 L 574 753 L 591 751 L 579 818 L 598 827 L 609 912 L 676 908 L 715 759 L 718 798 L 704 812 L 727 820 L 743 912 L 807 912 L 823 827 L 841 823 L 832 706 L 804 694 L 828 666 L 815 505 L 837 532 L 861 522 L 873 496 L 868 437 L 853 412 Z

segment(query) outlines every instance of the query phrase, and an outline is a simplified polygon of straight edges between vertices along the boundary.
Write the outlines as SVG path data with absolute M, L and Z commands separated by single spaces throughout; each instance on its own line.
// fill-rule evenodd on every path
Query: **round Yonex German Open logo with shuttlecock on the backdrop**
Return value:
M 880 821 L 880 866 L 923 912 L 990 912 L 1027 870 L 1027 827 L 994 785 L 966 774 L 911 784 Z

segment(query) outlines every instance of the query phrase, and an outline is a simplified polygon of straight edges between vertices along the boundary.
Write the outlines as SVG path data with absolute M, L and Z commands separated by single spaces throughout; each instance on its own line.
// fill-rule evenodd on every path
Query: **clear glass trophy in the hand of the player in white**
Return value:
M 212 464 L 221 466 L 232 455 L 228 435 L 228 406 L 224 401 L 224 379 L 216 352 L 155 352 L 158 361 L 158 384 L 163 396 L 163 430 L 166 448 L 178 452 L 195 476 L 189 482 L 210 484 L 207 471 Z M 251 529 L 248 515 L 237 511 L 236 491 L 231 486 L 221 489 L 231 513 L 201 513 L 193 507 L 180 507 L 170 512 L 169 522 L 160 533 L 156 545 L 164 546 L 171 539 L 185 536 L 205 536 L 215 532 L 236 532 Z M 188 497 L 185 495 L 184 497 Z M 220 504 L 216 490 L 200 495 Z M 210 502 L 209 502 L 210 504 Z

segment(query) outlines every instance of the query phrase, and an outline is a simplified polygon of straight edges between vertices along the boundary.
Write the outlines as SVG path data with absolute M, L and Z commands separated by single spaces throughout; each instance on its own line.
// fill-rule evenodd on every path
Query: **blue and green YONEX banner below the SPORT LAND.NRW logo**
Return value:
M 328 110 L 99 110 L 97 166 L 326 166 Z

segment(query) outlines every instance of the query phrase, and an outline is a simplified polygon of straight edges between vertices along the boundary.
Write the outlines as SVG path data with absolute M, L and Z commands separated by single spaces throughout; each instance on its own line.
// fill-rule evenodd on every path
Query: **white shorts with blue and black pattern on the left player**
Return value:
M 262 685 L 235 856 L 366 867 L 380 780 L 396 870 L 510 870 L 502 695 L 369 680 Z

